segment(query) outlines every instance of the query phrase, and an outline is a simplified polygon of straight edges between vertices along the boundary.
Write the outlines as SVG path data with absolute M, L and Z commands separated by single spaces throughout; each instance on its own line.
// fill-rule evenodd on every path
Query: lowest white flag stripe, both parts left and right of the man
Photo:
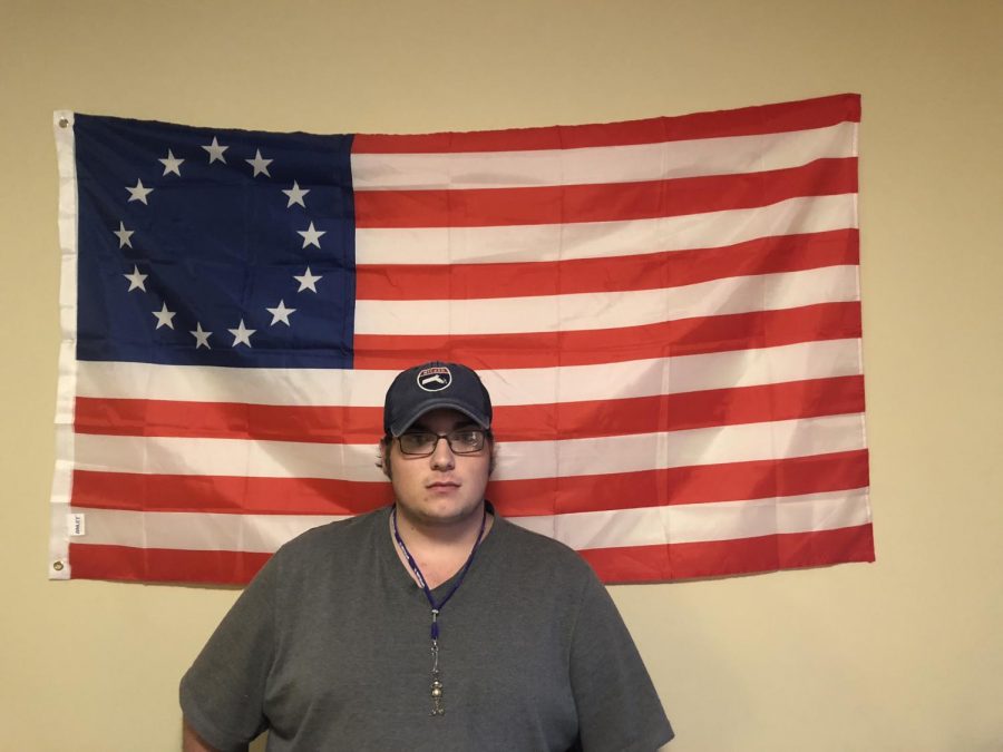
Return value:
M 79 545 L 274 553 L 310 528 L 344 519 L 312 515 L 216 515 L 75 508 L 85 516 Z M 812 533 L 870 521 L 867 490 L 752 501 L 719 501 L 614 511 L 513 517 L 510 521 L 572 548 L 653 546 Z

